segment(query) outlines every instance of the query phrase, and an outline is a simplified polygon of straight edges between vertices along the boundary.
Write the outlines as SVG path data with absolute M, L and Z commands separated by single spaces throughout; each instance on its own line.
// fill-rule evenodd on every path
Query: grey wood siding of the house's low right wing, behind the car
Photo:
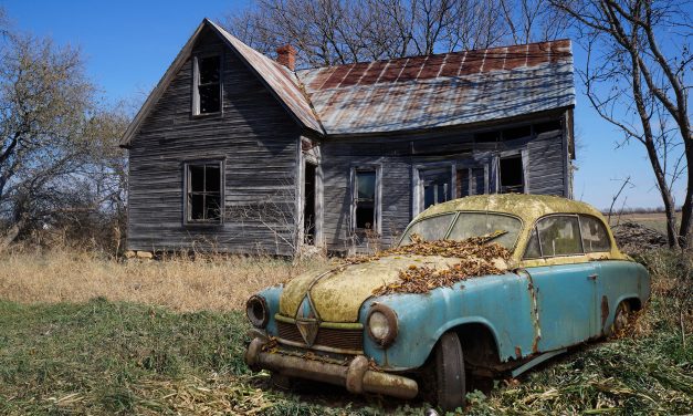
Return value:
M 553 114 L 559 119 L 564 114 Z M 544 118 L 537 121 L 546 121 Z M 522 124 L 532 124 L 525 119 Z M 513 125 L 483 127 L 503 129 Z M 369 250 L 375 245 L 396 242 L 418 214 L 416 190 L 417 169 L 430 166 L 484 166 L 491 175 L 494 157 L 521 152 L 525 157 L 525 185 L 531 194 L 566 195 L 565 171 L 569 156 L 565 152 L 563 129 L 498 143 L 475 143 L 472 129 L 440 129 L 423 133 L 369 137 L 327 138 L 321 146 L 323 178 L 323 241 L 330 251 Z M 351 229 L 354 167 L 378 167 L 381 173 L 380 238 L 355 233 Z M 491 178 L 487 178 L 491 181 Z M 494 191 L 490 184 L 490 191 Z M 454 196 L 454 195 L 453 195 Z

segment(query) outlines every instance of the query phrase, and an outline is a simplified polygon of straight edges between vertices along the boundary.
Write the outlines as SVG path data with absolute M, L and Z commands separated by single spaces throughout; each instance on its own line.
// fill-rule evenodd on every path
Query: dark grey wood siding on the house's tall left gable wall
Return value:
M 212 32 L 196 54 L 221 53 L 223 112 L 192 116 L 192 60 L 132 142 L 128 248 L 291 253 L 300 128 Z M 183 163 L 223 160 L 221 226 L 183 225 Z

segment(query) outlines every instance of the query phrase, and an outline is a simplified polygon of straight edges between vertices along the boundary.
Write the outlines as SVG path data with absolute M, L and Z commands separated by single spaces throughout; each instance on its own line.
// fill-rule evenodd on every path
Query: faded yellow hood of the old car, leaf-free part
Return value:
M 358 311 L 372 292 L 399 281 L 399 272 L 410 266 L 447 269 L 459 258 L 441 256 L 388 256 L 356 264 L 334 264 L 300 274 L 284 285 L 280 313 L 294 318 L 298 306 L 309 300 L 321 321 L 357 322 Z

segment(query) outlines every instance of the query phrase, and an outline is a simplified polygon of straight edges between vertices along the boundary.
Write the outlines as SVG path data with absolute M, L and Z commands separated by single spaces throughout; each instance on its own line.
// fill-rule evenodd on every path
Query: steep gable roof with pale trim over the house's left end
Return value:
M 244 61 L 250 70 L 260 77 L 263 84 L 265 84 L 280 103 L 303 127 L 324 134 L 324 129 L 317 119 L 317 116 L 313 112 L 313 108 L 311 108 L 308 98 L 298 86 L 298 81 L 294 73 L 288 71 L 285 66 L 248 46 L 245 43 L 232 37 L 229 32 L 221 29 L 209 19 L 204 19 L 196 29 L 195 33 L 190 37 L 182 50 L 178 53 L 176 60 L 174 60 L 157 86 L 145 101 L 145 104 L 141 106 L 128 128 L 125 131 L 125 134 L 120 138 L 120 146 L 127 146 L 129 144 L 130 139 L 137 133 L 154 105 L 190 56 L 192 46 L 202 32 L 202 29 L 206 27 L 211 28 L 221 37 L 221 39 L 225 41 L 230 49 L 233 50 L 239 58 Z

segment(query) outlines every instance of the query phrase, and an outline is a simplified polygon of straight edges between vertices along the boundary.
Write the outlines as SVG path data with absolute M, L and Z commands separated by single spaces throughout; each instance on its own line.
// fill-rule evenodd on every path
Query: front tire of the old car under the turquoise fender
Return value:
M 452 412 L 464 407 L 464 378 L 462 344 L 456 333 L 447 332 L 435 344 L 435 388 L 440 408 Z

